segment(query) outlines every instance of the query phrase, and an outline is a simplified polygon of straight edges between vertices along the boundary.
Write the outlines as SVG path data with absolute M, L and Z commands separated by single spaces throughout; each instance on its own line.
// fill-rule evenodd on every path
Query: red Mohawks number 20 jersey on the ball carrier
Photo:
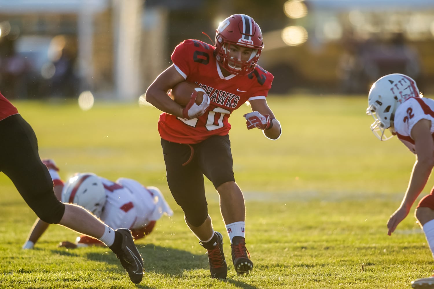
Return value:
M 229 133 L 228 121 L 233 110 L 246 101 L 265 99 L 273 75 L 259 65 L 249 75 L 224 77 L 214 56 L 215 47 L 199 40 L 185 40 L 174 49 L 171 59 L 178 72 L 201 86 L 210 97 L 204 115 L 185 120 L 162 113 L 158 120 L 161 138 L 174 143 L 200 143 L 213 135 Z

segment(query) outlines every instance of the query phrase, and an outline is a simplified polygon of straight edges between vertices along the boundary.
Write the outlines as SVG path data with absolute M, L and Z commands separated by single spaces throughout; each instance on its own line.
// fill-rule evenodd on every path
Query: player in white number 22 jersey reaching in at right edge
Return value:
M 416 82 L 399 73 L 379 78 L 369 91 L 366 113 L 375 120 L 371 130 L 380 140 L 398 136 L 416 155 L 404 198 L 387 223 L 388 235 L 407 217 L 434 166 L 434 100 L 422 96 Z M 387 130 L 390 130 L 389 135 Z M 419 201 L 415 217 L 431 253 L 434 253 L 434 188 Z M 434 276 L 414 280 L 411 285 L 414 288 L 434 288 Z

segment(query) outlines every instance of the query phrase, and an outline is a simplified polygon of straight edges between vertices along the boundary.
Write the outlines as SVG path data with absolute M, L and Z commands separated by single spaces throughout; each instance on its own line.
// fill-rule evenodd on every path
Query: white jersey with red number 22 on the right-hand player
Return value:
M 434 100 L 425 97 L 410 97 L 395 111 L 394 126 L 399 140 L 416 153 L 411 129 L 421 119 L 431 120 L 431 134 L 434 133 Z

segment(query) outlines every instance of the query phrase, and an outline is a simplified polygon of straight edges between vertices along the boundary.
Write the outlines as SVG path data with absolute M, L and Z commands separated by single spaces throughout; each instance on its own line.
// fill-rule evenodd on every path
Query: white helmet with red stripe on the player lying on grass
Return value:
M 105 204 L 104 185 L 95 174 L 76 174 L 63 187 L 62 203 L 80 205 L 99 217 Z

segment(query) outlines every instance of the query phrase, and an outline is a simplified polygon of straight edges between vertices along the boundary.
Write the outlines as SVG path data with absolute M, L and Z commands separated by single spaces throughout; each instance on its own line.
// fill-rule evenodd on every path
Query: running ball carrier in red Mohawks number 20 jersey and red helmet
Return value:
M 247 128 L 258 128 L 276 140 L 281 130 L 266 102 L 273 75 L 257 65 L 264 45 L 258 24 L 244 14 L 220 23 L 215 46 L 199 40 L 181 42 L 173 62 L 146 91 L 146 101 L 163 113 L 158 120 L 168 186 L 185 214 L 185 221 L 207 249 L 213 278 L 227 277 L 222 235 L 208 215 L 204 175 L 220 195 L 220 211 L 229 235 L 237 274 L 249 273 L 253 262 L 245 242 L 244 197 L 233 175 L 228 121 L 234 110 L 250 102 Z M 168 95 L 176 84 L 189 81 L 206 92 L 201 104 L 181 107 Z M 195 94 L 192 94 L 194 97 Z

